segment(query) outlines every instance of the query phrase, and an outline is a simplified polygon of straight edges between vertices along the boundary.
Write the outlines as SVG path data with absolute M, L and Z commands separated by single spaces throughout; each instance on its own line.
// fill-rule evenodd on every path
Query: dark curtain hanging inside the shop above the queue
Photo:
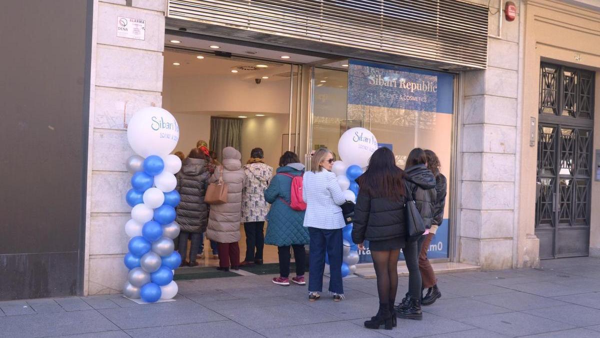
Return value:
M 211 117 L 211 144 L 209 148 L 217 153 L 223 162 L 223 149 L 234 147 L 242 150 L 242 120 L 240 118 Z

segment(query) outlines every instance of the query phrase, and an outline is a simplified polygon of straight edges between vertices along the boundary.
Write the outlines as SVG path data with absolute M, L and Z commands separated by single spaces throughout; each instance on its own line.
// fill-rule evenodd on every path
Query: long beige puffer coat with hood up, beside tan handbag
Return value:
M 241 238 L 242 189 L 246 175 L 242 170 L 242 155 L 232 147 L 223 149 L 223 167 L 217 167 L 209 182 L 217 182 L 223 171 L 223 182 L 227 184 L 227 203 L 213 204 L 208 217 L 206 236 L 215 242 L 233 243 Z

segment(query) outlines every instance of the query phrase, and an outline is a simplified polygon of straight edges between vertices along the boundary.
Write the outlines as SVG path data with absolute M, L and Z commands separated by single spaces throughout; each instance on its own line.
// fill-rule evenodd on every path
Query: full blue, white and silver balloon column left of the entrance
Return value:
M 177 145 L 179 126 L 168 111 L 144 108 L 131 117 L 127 139 L 137 155 L 127 159 L 127 170 L 133 176 L 125 199 L 133 209 L 125 224 L 130 239 L 124 262 L 129 275 L 123 293 L 154 303 L 178 292 L 173 273 L 181 256 L 174 251 L 173 239 L 179 235 L 175 174 L 181 169 L 181 160 L 169 153 Z

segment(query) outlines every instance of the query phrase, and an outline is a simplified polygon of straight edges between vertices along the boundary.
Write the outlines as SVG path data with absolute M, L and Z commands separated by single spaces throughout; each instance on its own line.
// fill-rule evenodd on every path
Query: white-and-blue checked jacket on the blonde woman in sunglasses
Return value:
M 346 198 L 334 173 L 325 169 L 305 173 L 302 197 L 307 204 L 305 227 L 334 230 L 346 226 L 340 207 Z

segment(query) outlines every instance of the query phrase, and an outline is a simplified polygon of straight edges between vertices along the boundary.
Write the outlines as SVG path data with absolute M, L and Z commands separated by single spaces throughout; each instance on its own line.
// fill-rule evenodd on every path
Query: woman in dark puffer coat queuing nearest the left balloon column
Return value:
M 206 185 L 211 177 L 208 167 L 208 155 L 194 148 L 183 161 L 181 171 L 177 174 L 177 191 L 181 202 L 177 206 L 177 223 L 181 226 L 179 233 L 179 254 L 181 265 L 185 264 L 187 241 L 191 239 L 188 265 L 197 266 L 196 254 L 202 241 L 202 233 L 208 225 L 208 204 L 204 202 Z

